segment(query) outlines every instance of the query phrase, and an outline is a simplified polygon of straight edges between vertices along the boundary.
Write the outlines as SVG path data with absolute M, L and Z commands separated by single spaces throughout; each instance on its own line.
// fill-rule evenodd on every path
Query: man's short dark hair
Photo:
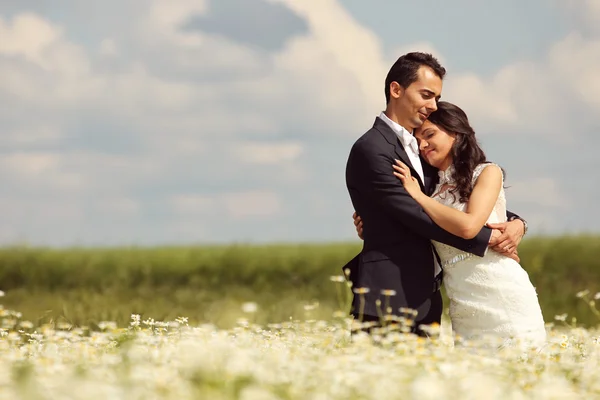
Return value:
M 429 53 L 413 52 L 400 56 L 390 68 L 385 78 L 385 102 L 390 102 L 390 85 L 398 82 L 403 88 L 407 88 L 417 80 L 417 72 L 421 66 L 429 67 L 440 79 L 444 79 L 446 69 L 440 62 Z

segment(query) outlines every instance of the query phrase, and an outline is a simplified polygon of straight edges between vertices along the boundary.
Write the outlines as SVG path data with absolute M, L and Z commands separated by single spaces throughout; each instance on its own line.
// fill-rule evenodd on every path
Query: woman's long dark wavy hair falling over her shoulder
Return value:
M 475 167 L 488 161 L 479 147 L 467 114 L 447 101 L 440 101 L 437 106 L 438 109 L 429 115 L 428 120 L 449 135 L 455 136 L 451 151 L 456 188 L 450 190 L 450 193 L 455 195 L 458 192 L 459 201 L 466 203 L 473 191 L 471 181 Z

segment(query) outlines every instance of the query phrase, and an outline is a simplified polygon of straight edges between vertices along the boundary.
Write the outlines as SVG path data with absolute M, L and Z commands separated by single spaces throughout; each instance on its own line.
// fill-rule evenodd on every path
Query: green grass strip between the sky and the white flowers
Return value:
M 1 302 L 34 324 L 115 321 L 122 326 L 136 313 L 229 327 L 244 315 L 244 302 L 258 304 L 258 323 L 327 319 L 336 310 L 347 311 L 349 292 L 330 277 L 341 274 L 360 246 L 7 247 L 0 249 Z M 568 313 L 569 321 L 597 323 L 576 293 L 600 291 L 600 237 L 532 237 L 519 253 L 547 322 Z

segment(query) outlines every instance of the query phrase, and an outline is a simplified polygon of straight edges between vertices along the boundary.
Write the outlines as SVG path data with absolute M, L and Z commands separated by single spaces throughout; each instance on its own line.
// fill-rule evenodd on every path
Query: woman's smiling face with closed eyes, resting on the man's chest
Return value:
M 455 135 L 440 129 L 437 125 L 425 121 L 415 130 L 421 155 L 428 164 L 445 170 L 452 164 L 452 145 Z

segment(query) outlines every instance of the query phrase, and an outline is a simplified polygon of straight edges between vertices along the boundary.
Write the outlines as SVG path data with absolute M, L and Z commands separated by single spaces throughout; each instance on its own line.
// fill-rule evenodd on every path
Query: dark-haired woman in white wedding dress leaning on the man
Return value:
M 421 156 L 440 177 L 434 194 L 421 192 L 410 169 L 397 160 L 394 174 L 435 223 L 469 239 L 486 223 L 506 221 L 504 172 L 486 161 L 462 109 L 440 101 L 414 132 Z M 433 242 L 444 269 L 452 330 L 460 337 L 493 336 L 541 346 L 544 319 L 535 288 L 519 263 L 488 249 L 484 257 Z

